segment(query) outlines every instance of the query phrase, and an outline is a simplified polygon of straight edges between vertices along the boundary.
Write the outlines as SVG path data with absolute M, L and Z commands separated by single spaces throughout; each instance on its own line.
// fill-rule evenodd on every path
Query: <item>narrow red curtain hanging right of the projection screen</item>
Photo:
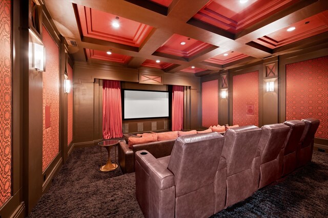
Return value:
M 173 85 L 172 92 L 172 131 L 183 128 L 183 86 Z

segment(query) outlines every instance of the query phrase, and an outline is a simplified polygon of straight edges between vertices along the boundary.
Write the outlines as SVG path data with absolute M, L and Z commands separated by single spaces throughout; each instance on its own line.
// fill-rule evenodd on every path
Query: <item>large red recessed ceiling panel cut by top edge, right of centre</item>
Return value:
M 298 1 L 249 0 L 241 4 L 239 0 L 212 0 L 193 18 L 231 33 L 237 33 Z

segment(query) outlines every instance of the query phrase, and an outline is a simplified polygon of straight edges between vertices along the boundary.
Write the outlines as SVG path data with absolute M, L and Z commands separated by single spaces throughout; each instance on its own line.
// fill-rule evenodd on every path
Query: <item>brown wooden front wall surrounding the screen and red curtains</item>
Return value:
M 102 90 L 101 81 L 112 79 L 121 81 L 121 89 L 168 91 L 169 85 L 184 85 L 190 100 L 186 108 L 184 128 L 199 128 L 200 79 L 190 74 L 169 74 L 158 71 L 145 71 L 122 67 L 104 66 L 91 63 L 74 63 L 74 103 L 73 138 L 76 146 L 90 146 L 102 138 Z M 163 85 L 140 84 L 139 73 L 159 75 Z M 97 112 L 96 112 L 97 111 Z M 185 116 L 185 115 L 184 115 Z M 122 121 L 124 133 L 171 129 L 171 121 L 166 118 L 138 119 Z M 101 135 L 100 135 L 101 134 Z

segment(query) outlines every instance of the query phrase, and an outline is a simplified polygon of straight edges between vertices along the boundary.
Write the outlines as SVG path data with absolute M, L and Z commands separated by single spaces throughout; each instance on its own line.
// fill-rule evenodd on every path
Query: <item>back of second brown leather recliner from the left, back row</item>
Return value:
M 242 201 L 258 188 L 261 129 L 254 125 L 228 129 L 222 159 L 227 162 L 226 207 Z

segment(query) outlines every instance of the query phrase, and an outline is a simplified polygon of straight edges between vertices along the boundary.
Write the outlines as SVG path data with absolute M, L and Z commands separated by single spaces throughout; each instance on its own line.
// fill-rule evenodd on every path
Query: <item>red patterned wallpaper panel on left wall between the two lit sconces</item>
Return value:
M 43 149 L 44 171 L 59 152 L 59 49 L 43 27 L 43 43 L 46 47 L 46 71 L 43 75 Z M 50 106 L 50 127 L 45 126 L 45 107 Z

